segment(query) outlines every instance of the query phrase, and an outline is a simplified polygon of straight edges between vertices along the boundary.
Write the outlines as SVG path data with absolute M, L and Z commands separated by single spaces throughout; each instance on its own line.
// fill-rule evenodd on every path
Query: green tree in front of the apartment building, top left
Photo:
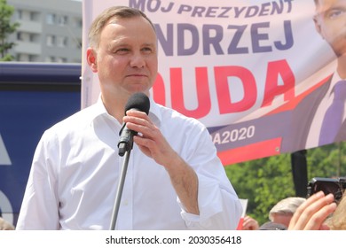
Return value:
M 6 0 L 0 0 L 0 61 L 13 60 L 12 55 L 8 53 L 8 50 L 12 49 L 15 43 L 8 42 L 8 35 L 14 33 L 19 23 L 11 23 L 11 17 L 14 12 L 14 8 L 7 5 Z

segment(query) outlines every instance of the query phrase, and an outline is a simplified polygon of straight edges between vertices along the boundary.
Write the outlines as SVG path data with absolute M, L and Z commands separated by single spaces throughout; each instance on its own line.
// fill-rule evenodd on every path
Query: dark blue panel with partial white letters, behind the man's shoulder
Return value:
M 78 91 L 0 91 L 0 134 L 12 161 L 11 166 L 0 165 L 0 208 L 3 215 L 8 211 L 4 209 L 5 195 L 12 205 L 13 224 L 18 219 L 31 161 L 43 131 L 79 111 L 80 106 Z

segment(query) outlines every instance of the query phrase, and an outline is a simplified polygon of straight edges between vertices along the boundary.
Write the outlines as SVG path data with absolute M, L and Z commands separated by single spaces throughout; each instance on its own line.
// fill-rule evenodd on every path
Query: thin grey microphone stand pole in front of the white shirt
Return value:
M 116 220 L 118 217 L 120 202 L 122 199 L 123 185 L 125 182 L 126 172 L 127 172 L 128 166 L 129 166 L 130 153 L 131 153 L 131 150 L 125 151 L 125 158 L 124 158 L 123 164 L 122 164 L 122 174 L 121 174 L 120 179 L 119 179 L 118 189 L 116 191 L 116 196 L 115 196 L 112 222 L 111 222 L 111 227 L 110 227 L 111 230 L 115 229 L 115 224 L 116 224 Z

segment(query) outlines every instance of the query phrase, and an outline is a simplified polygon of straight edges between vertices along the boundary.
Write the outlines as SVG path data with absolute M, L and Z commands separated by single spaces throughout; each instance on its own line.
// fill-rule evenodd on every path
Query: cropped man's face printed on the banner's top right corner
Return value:
M 319 0 L 314 18 L 318 33 L 337 57 L 346 54 L 346 0 Z

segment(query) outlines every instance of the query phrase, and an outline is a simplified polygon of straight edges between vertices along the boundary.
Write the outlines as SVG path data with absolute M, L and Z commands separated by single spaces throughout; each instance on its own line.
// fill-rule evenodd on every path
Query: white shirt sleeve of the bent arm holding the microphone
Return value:
M 197 137 L 195 148 L 189 151 L 186 162 L 198 176 L 198 204 L 200 214 L 186 213 L 180 200 L 181 216 L 188 229 L 236 229 L 240 221 L 242 206 L 225 174 L 224 167 L 216 155 L 207 129 Z M 190 144 L 194 143 L 189 141 Z

